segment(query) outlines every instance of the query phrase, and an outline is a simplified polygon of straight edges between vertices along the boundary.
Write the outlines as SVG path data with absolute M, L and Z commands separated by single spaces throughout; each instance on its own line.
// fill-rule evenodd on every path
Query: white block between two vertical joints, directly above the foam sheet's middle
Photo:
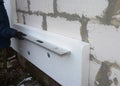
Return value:
M 81 24 L 78 21 L 67 21 L 66 19 L 60 17 L 47 17 L 47 27 L 49 32 L 81 40 Z

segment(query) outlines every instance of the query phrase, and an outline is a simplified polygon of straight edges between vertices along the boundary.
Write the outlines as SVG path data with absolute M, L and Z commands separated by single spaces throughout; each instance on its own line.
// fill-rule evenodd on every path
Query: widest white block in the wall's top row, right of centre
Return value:
M 70 14 L 82 14 L 87 17 L 101 16 L 108 6 L 106 0 L 57 0 L 58 11 Z

